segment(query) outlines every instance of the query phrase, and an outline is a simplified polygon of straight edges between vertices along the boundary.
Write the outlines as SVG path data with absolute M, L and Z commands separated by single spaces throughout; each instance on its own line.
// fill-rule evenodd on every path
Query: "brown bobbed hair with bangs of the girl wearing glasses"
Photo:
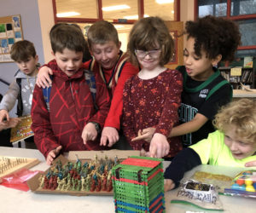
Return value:
M 148 17 L 138 20 L 132 27 L 127 52 L 131 63 L 138 65 L 135 55 L 136 49 L 150 50 L 160 45 L 160 65 L 163 66 L 172 60 L 174 43 L 172 36 L 163 20 L 159 17 Z

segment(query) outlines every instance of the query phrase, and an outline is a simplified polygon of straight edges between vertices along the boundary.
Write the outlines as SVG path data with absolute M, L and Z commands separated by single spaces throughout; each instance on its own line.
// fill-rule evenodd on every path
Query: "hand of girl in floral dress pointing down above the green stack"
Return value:
M 170 145 L 165 135 L 155 133 L 149 147 L 151 158 L 163 158 L 170 151 Z

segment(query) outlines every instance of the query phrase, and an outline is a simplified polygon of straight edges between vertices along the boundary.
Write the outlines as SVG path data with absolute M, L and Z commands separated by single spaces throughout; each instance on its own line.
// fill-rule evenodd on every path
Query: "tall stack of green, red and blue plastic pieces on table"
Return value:
M 165 212 L 162 159 L 131 156 L 112 178 L 116 212 Z

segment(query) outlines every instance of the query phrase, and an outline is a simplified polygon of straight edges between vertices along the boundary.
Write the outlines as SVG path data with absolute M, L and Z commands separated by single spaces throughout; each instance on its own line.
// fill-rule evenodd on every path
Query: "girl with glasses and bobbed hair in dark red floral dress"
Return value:
M 179 138 L 166 139 L 177 124 L 183 89 L 181 73 L 164 66 L 172 59 L 173 49 L 172 37 L 160 18 L 144 18 L 132 27 L 128 53 L 141 71 L 125 83 L 124 133 L 133 149 L 151 157 L 172 157 L 182 149 Z M 139 130 L 151 126 L 155 131 L 150 141 L 131 141 Z

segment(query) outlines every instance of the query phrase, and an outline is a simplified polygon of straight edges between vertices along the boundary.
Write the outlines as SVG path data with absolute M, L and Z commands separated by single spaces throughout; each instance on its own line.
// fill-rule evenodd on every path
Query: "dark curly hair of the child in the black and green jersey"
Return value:
M 222 55 L 221 60 L 232 61 L 241 43 L 241 33 L 236 22 L 212 15 L 196 21 L 187 21 L 185 33 L 188 39 L 195 38 L 195 55 L 201 56 L 201 49 L 203 49 L 209 59 Z

